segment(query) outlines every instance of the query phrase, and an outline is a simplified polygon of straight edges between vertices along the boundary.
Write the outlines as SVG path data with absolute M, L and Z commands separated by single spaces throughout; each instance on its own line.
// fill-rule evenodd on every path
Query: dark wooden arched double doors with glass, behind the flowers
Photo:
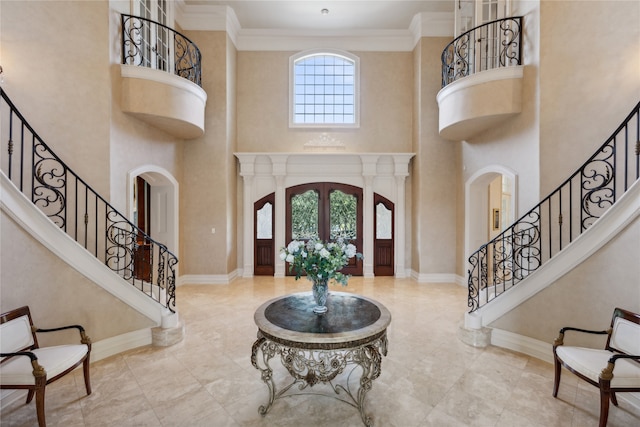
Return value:
M 286 191 L 285 241 L 344 238 L 362 252 L 362 189 L 332 182 L 302 184 Z M 362 275 L 362 261 L 352 258 L 341 271 Z M 291 275 L 287 267 L 286 274 Z

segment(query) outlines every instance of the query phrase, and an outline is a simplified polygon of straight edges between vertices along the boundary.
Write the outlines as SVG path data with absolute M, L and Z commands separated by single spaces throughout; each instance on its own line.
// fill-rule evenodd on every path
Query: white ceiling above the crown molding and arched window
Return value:
M 187 6 L 229 6 L 243 30 L 407 30 L 422 12 L 453 12 L 454 0 L 272 1 L 183 0 Z M 328 13 L 323 14 L 322 10 Z

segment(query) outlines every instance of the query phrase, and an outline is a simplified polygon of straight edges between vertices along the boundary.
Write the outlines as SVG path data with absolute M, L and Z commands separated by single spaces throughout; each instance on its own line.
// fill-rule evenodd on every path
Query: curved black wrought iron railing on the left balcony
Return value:
M 122 15 L 122 63 L 173 73 L 202 86 L 202 55 L 198 46 L 150 19 Z

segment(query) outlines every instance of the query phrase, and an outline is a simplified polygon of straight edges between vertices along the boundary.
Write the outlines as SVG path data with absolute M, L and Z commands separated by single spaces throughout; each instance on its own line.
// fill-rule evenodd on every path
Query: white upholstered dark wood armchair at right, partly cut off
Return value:
M 606 334 L 607 343 L 602 350 L 566 346 L 564 334 L 567 331 Z M 600 427 L 605 427 L 609 416 L 609 400 L 618 406 L 616 393 L 640 392 L 640 314 L 616 308 L 611 327 L 606 331 L 562 328 L 553 343 L 553 355 L 553 397 L 558 396 L 561 367 L 564 366 L 600 389 Z

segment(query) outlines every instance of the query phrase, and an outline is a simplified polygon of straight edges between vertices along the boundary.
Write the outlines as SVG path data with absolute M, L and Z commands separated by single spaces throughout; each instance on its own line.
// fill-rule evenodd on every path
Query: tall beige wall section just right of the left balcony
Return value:
M 180 189 L 180 274 L 228 274 L 235 269 L 236 237 L 233 75 L 234 54 L 221 31 L 184 33 L 202 53 L 207 92 L 205 134 L 186 141 Z M 231 67 L 231 69 L 230 69 Z M 233 187 L 231 187 L 233 185 Z M 211 229 L 215 228 L 215 234 Z

